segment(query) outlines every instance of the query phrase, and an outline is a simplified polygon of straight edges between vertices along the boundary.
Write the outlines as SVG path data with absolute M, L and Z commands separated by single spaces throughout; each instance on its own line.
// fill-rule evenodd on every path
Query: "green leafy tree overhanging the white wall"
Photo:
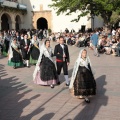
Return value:
M 120 0 L 52 0 L 52 2 L 49 6 L 57 10 L 57 15 L 61 13 L 70 15 L 79 11 L 78 17 L 72 20 L 76 22 L 88 14 L 91 17 L 100 15 L 104 24 L 108 26 L 113 11 L 120 11 Z

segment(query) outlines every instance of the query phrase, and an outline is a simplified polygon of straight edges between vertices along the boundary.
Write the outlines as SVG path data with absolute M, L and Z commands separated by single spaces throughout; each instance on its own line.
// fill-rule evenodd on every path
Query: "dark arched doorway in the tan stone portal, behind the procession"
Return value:
M 37 20 L 37 29 L 48 29 L 48 22 L 45 18 L 39 18 Z

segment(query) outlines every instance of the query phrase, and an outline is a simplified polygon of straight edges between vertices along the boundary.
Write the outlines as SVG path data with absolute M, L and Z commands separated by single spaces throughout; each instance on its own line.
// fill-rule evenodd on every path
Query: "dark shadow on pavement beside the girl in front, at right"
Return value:
M 106 76 L 102 75 L 96 79 L 97 95 L 91 98 L 90 104 L 85 104 L 85 107 L 74 120 L 93 120 L 102 106 L 107 105 L 108 97 L 105 95 Z

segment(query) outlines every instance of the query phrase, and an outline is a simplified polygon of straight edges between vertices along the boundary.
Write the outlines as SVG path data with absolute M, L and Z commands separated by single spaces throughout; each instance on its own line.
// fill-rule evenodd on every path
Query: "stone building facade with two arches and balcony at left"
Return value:
M 21 1 L 0 1 L 0 30 L 22 29 L 27 7 Z

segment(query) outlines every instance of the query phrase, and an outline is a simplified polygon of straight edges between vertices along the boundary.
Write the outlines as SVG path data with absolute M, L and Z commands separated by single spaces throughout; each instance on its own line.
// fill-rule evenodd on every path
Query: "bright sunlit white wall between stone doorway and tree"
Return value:
M 80 18 L 79 22 L 71 22 L 71 20 L 77 18 L 77 14 L 75 13 L 70 16 L 66 16 L 65 14 L 57 16 L 55 11 L 53 11 L 53 16 L 54 31 L 64 31 L 65 28 L 68 28 L 69 30 L 73 28 L 75 29 L 75 31 L 78 31 L 79 29 L 81 29 L 81 25 L 87 25 L 88 23 L 87 17 Z

